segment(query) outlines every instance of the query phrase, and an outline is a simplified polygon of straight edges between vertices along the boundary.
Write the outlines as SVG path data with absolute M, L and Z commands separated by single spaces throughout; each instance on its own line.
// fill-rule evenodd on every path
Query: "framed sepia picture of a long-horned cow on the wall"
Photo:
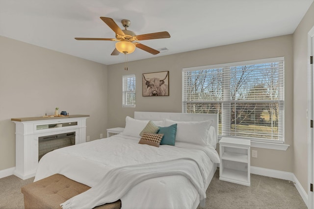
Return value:
M 169 96 L 169 71 L 143 73 L 142 96 Z

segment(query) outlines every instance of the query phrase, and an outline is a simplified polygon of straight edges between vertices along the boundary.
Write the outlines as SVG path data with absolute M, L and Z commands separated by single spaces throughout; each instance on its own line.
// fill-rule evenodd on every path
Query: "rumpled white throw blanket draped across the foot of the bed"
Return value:
M 206 177 L 201 173 L 201 170 L 199 163 L 191 158 L 114 168 L 108 171 L 96 186 L 72 197 L 62 203 L 61 206 L 62 209 L 92 209 L 105 203 L 117 201 L 133 186 L 143 181 L 174 175 L 187 178 L 200 194 L 200 201 L 205 203 Z

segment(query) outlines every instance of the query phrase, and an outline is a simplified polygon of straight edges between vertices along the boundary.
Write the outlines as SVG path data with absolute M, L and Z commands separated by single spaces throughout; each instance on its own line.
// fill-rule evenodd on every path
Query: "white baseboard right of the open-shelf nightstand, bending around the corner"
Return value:
M 308 194 L 304 190 L 304 188 L 301 186 L 300 182 L 298 181 L 298 179 L 295 177 L 293 173 L 279 171 L 279 170 L 272 170 L 272 169 L 267 169 L 267 168 L 261 168 L 261 167 L 254 167 L 254 166 L 251 166 L 251 173 L 293 182 L 294 186 L 296 187 L 299 194 L 301 195 L 304 203 L 308 207 L 308 203 L 309 203 Z

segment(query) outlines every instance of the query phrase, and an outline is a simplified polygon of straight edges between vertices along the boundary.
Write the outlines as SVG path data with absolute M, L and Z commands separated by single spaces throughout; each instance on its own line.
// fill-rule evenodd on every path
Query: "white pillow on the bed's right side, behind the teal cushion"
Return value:
M 164 119 L 165 126 L 177 123 L 176 141 L 183 141 L 198 145 L 208 145 L 209 128 L 213 120 L 205 121 L 173 121 Z

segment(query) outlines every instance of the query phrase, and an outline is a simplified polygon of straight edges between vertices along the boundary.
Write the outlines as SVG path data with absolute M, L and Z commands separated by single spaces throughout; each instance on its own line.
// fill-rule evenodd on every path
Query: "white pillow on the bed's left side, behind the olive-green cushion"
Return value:
M 147 123 L 148 123 L 148 121 L 146 121 L 146 120 L 137 120 L 137 119 L 134 119 L 134 118 L 127 116 L 126 117 L 126 127 L 124 128 L 122 134 L 125 136 L 140 138 L 139 134 L 145 128 Z

